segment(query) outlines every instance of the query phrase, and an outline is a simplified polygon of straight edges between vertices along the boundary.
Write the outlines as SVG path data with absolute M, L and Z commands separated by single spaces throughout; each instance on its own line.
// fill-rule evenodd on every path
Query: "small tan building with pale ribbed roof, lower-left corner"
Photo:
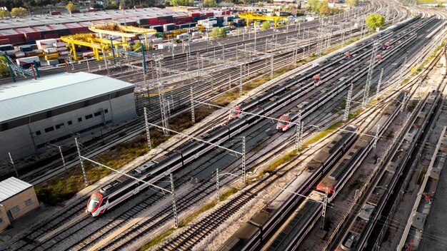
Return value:
M 37 207 L 39 201 L 33 185 L 14 177 L 0 182 L 0 231 Z

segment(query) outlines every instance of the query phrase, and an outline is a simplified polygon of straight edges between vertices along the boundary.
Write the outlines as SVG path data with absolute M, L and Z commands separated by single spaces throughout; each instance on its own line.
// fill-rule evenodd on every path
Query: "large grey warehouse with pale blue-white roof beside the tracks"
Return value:
M 136 117 L 134 85 L 63 73 L 0 90 L 0 158 L 23 158 Z

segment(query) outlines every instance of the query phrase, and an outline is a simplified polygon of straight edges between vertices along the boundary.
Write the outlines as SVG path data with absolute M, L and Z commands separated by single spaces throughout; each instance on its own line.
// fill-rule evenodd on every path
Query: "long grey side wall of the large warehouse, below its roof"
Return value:
M 134 93 L 0 132 L 0 158 L 24 158 L 136 117 Z M 71 123 L 71 124 L 70 124 Z M 17 140 L 20 139 L 20 140 Z

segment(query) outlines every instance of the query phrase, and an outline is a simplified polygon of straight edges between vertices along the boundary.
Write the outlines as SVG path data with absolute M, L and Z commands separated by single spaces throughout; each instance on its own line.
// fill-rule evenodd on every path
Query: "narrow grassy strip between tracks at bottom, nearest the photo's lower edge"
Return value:
M 226 190 L 226 192 L 224 194 L 221 194 L 219 196 L 219 198 L 221 201 L 223 201 L 237 192 L 238 192 L 237 188 L 229 188 L 228 190 Z M 214 206 L 216 206 L 216 205 L 217 205 L 216 202 L 212 202 L 212 203 L 208 203 L 208 204 L 204 205 L 202 208 L 200 208 L 199 210 L 196 210 L 191 215 L 186 217 L 185 220 L 182 220 L 181 222 L 179 222 L 179 227 L 184 227 L 184 226 L 188 225 L 190 222 L 195 220 L 196 217 L 199 217 L 199 215 L 201 215 L 201 213 L 214 208 Z M 155 237 L 153 240 L 151 240 L 149 243 L 147 243 L 146 245 L 141 247 L 139 250 L 141 250 L 141 251 L 148 250 L 149 248 L 154 247 L 155 245 L 163 242 L 166 239 L 166 237 L 168 237 L 169 235 L 171 235 L 174 232 L 174 230 L 175 230 L 174 228 L 170 228 L 166 232 L 161 233 L 161 235 Z

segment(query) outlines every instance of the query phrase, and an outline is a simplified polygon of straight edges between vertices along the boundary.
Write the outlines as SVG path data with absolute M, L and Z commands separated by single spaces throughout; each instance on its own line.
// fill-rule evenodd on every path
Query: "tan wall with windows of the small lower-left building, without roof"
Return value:
M 29 203 L 26 203 L 26 201 L 29 201 Z M 9 219 L 10 221 L 16 220 L 18 217 L 26 214 L 26 212 L 39 207 L 39 201 L 37 200 L 36 193 L 34 192 L 34 187 L 28 188 L 21 193 L 14 195 L 13 197 L 6 199 L 0 203 L 4 206 L 6 217 L 12 218 Z

